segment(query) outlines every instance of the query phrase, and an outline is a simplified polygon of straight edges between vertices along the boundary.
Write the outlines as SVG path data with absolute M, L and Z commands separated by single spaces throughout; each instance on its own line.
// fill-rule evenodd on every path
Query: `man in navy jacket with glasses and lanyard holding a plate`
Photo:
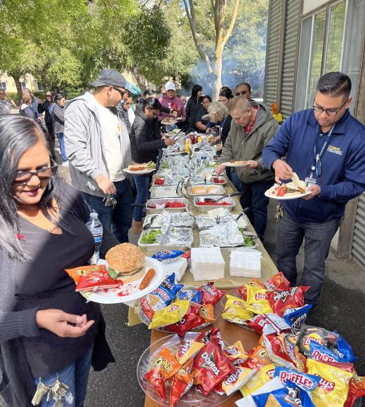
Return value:
M 300 285 L 311 286 L 305 301 L 316 305 L 325 260 L 345 205 L 365 190 L 365 126 L 350 114 L 351 80 L 342 72 L 319 79 L 312 109 L 293 113 L 263 150 L 263 164 L 277 182 L 293 172 L 310 194 L 282 201 L 277 234 L 277 267 L 296 285 L 296 255 L 304 243 Z M 281 157 L 286 156 L 286 161 Z

